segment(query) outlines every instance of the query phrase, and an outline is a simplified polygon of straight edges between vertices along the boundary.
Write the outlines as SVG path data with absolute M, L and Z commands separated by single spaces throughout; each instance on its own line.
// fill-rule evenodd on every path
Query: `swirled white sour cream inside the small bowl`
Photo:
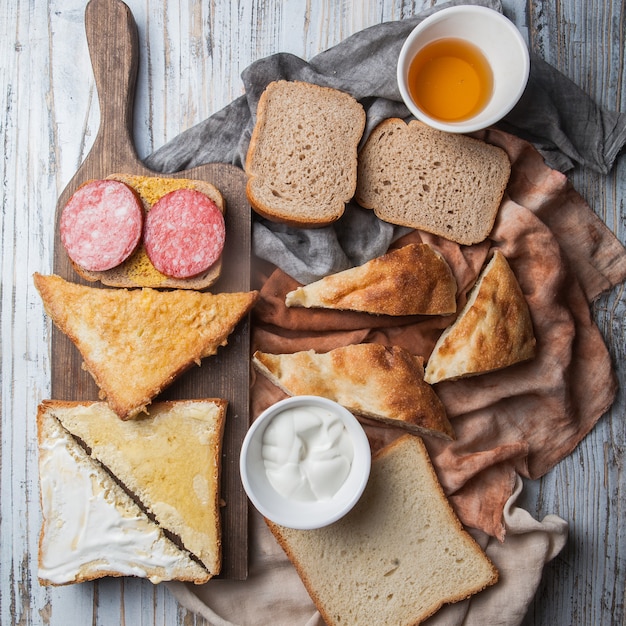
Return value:
M 329 500 L 350 473 L 354 448 L 341 419 L 319 406 L 296 406 L 278 413 L 265 428 L 263 465 L 283 497 Z

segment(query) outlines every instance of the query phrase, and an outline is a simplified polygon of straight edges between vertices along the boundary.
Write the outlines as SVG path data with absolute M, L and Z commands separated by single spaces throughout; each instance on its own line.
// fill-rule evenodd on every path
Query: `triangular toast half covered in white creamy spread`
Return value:
M 37 426 L 42 585 L 105 576 L 136 576 L 155 584 L 166 580 L 200 584 L 211 578 L 87 455 L 50 405 L 40 406 Z

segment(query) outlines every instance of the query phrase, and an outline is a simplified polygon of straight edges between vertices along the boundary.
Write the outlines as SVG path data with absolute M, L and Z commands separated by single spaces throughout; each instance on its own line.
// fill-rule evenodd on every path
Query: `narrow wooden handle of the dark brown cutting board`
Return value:
M 92 151 L 106 155 L 114 169 L 132 167 L 140 163 L 133 141 L 137 25 L 120 0 L 90 0 L 85 32 L 100 103 L 100 127 Z

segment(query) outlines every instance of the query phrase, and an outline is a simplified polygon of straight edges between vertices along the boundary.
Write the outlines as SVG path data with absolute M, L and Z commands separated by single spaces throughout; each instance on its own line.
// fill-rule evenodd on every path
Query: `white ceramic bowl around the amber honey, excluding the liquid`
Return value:
M 423 111 L 407 86 L 411 61 L 427 44 L 443 38 L 464 39 L 484 54 L 493 73 L 493 93 L 486 106 L 462 121 L 441 121 Z M 420 22 L 407 37 L 398 57 L 400 95 L 420 121 L 439 130 L 468 133 L 502 119 L 519 101 L 530 71 L 528 46 L 515 25 L 504 15 L 481 6 L 460 5 L 442 9 Z

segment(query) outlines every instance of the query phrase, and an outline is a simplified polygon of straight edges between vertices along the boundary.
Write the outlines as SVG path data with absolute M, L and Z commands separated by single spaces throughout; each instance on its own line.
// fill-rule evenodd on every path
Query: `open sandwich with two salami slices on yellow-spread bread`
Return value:
M 74 192 L 59 231 L 90 282 L 206 289 L 221 273 L 224 212 L 222 194 L 206 181 L 112 174 Z

